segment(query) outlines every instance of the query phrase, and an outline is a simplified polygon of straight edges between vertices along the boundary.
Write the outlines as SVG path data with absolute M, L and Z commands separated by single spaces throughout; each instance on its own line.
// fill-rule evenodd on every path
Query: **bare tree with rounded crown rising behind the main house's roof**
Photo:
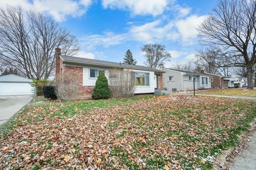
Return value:
M 145 64 L 152 69 L 158 69 L 159 65 L 171 58 L 171 54 L 166 52 L 164 45 L 146 44 L 141 50 L 145 52 Z

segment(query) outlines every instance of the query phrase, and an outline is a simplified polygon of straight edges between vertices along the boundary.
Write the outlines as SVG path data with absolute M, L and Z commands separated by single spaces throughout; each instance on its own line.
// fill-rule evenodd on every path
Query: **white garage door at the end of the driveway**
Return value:
M 27 82 L 0 82 L 0 96 L 7 95 L 33 95 L 33 91 Z

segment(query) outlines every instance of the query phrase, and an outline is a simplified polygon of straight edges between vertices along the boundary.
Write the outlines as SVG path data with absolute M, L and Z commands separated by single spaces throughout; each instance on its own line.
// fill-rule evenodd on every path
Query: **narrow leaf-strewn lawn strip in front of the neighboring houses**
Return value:
M 205 90 L 197 91 L 197 94 L 256 97 L 256 89 L 254 90 L 247 90 L 246 88 L 211 89 L 206 91 Z

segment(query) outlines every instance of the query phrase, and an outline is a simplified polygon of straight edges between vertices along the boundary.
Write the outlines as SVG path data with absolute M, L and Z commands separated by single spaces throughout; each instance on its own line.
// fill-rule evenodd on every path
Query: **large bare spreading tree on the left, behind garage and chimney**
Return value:
M 21 7 L 0 8 L 0 62 L 30 79 L 47 79 L 55 68 L 54 48 L 64 54 L 78 51 L 77 40 L 42 13 Z

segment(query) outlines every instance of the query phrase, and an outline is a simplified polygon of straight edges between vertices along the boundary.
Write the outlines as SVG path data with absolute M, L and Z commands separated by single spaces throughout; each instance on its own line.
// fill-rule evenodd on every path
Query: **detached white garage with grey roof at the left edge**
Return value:
M 0 76 L 0 96 L 34 95 L 31 79 L 8 74 Z

